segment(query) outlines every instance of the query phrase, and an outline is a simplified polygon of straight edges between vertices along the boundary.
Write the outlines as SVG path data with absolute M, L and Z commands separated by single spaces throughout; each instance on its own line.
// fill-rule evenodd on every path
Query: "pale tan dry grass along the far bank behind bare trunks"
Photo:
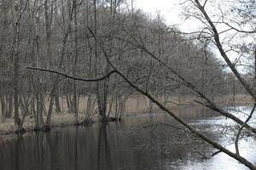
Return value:
M 193 100 L 195 98 L 191 97 L 172 97 L 168 102 L 166 102 L 166 107 L 176 110 L 180 106 L 191 106 L 195 105 L 192 104 Z M 161 102 L 164 101 L 163 98 L 159 98 Z M 230 104 L 235 104 L 236 105 L 248 105 L 252 103 L 252 99 L 245 95 L 245 94 L 237 94 L 236 98 L 233 99 L 232 95 L 226 95 L 223 97 L 218 97 L 215 99 L 217 103 L 224 104 L 224 105 L 230 105 Z M 84 119 L 84 113 L 86 109 L 86 104 L 87 104 L 87 99 L 86 97 L 80 98 L 79 101 L 79 122 L 83 121 Z M 47 104 L 46 104 L 47 106 Z M 108 105 L 109 108 L 109 105 Z M 114 105 L 113 105 L 114 108 Z M 72 125 L 75 122 L 75 117 L 73 114 L 67 112 L 67 102 L 66 99 L 61 99 L 61 113 L 54 113 L 52 115 L 52 122 L 51 126 L 67 126 L 67 125 Z M 94 107 L 94 110 L 96 110 L 96 105 Z M 151 104 L 150 108 L 150 103 L 149 100 L 142 96 L 142 95 L 137 95 L 137 96 L 131 96 L 125 103 L 125 112 L 122 113 L 123 116 L 136 116 L 139 114 L 144 114 L 148 113 L 150 111 L 159 111 L 159 107 L 157 105 Z M 112 109 L 113 111 L 113 109 Z M 111 112 L 111 111 L 110 111 Z M 44 116 L 44 120 L 46 120 L 46 117 Z M 99 116 L 94 116 L 94 121 L 99 120 Z M 26 128 L 27 131 L 32 131 L 32 129 L 35 127 L 35 122 L 34 118 L 32 116 L 26 116 L 25 122 L 23 127 Z M 9 118 L 9 119 L 4 119 L 3 117 L 0 116 L 0 134 L 6 134 L 6 133 L 13 133 L 15 132 L 15 123 L 14 119 Z

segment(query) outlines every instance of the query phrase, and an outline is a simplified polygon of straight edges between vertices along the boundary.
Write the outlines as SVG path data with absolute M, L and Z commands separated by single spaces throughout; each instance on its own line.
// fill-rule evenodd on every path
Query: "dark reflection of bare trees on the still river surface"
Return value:
M 165 167 L 165 162 L 175 165 L 178 162 L 201 161 L 194 151 L 207 151 L 206 146 L 199 145 L 192 150 L 192 143 L 183 144 L 187 142 L 183 141 L 183 134 L 187 136 L 186 133 L 171 127 L 143 128 L 152 125 L 150 123 L 155 120 L 171 122 L 167 118 L 153 113 L 149 116 L 134 116 L 121 123 L 96 123 L 91 127 L 68 127 L 50 133 L 32 133 L 23 139 L 0 145 L 0 170 L 169 169 Z M 193 126 L 201 130 L 209 128 L 207 120 L 201 122 L 202 127 L 197 124 Z M 172 121 L 172 125 L 177 124 Z M 136 130 L 131 133 L 131 128 Z M 218 136 L 215 137 L 218 140 Z M 165 150 L 166 154 L 163 154 Z

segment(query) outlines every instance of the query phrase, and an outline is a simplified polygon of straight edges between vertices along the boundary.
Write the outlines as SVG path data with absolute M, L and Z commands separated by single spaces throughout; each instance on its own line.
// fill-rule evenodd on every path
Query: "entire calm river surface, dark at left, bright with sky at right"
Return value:
M 227 123 L 224 117 L 201 108 L 177 112 L 199 127 Z M 0 170 L 247 169 L 223 153 L 202 159 L 195 151 L 197 144 L 183 142 L 183 134 L 175 128 L 153 126 L 156 122 L 177 126 L 170 116 L 152 114 L 91 127 L 56 128 L 50 133 L 30 133 L 0 142 Z M 218 135 L 212 138 L 233 147 Z M 241 140 L 242 156 L 253 163 L 255 144 L 253 138 Z M 210 147 L 197 150 L 213 151 Z

